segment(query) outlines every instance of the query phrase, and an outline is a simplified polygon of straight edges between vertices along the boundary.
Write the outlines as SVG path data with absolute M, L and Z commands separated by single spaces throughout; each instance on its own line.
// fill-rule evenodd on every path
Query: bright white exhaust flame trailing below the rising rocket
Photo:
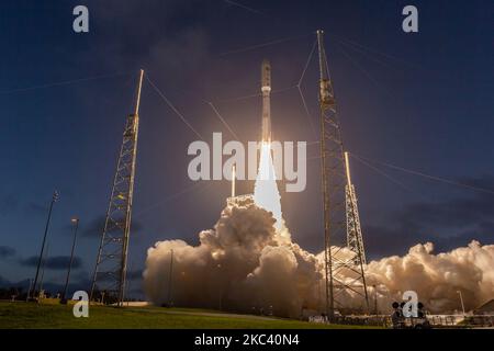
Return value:
M 271 156 L 271 143 L 262 141 L 259 160 L 259 171 L 254 186 L 254 202 L 257 206 L 272 213 L 277 223 L 274 227 L 278 233 L 288 235 L 284 230 L 284 220 L 281 213 L 280 192 L 277 185 L 277 176 Z

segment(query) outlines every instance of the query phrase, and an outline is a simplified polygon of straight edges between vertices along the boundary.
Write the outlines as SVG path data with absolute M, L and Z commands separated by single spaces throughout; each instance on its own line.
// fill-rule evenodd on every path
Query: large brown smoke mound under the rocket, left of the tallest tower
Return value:
M 302 306 L 316 308 L 319 261 L 278 235 L 274 222 L 247 199 L 228 205 L 214 229 L 200 233 L 198 247 L 182 240 L 157 242 L 146 260 L 147 296 L 158 305 L 172 301 L 180 306 L 262 309 L 293 317 L 300 316 Z

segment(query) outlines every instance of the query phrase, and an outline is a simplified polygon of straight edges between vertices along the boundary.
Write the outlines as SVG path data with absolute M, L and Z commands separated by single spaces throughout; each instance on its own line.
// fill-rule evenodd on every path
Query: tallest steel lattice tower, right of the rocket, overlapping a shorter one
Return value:
M 345 167 L 345 152 L 341 129 L 337 114 L 337 104 L 330 80 L 326 52 L 324 48 L 324 33 L 317 31 L 319 56 L 319 107 L 321 107 L 321 172 L 323 189 L 324 241 L 325 241 L 325 282 L 326 282 L 326 313 L 329 320 L 335 317 L 336 308 L 347 308 L 348 298 L 361 296 L 367 309 L 369 299 L 363 274 L 364 258 L 358 249 L 361 242 L 356 230 L 359 224 L 356 201 L 351 201 L 355 190 L 348 183 Z M 347 193 L 350 196 L 347 196 Z M 355 196 L 353 196 L 355 197 Z M 347 199 L 349 202 L 347 203 Z M 348 227 L 351 226 L 350 230 Z M 358 227 L 360 227 L 358 225 Z M 349 235 L 344 245 L 335 244 Z M 360 236 L 361 238 L 361 236 Z M 332 249 L 332 247 L 334 247 Z M 355 250 L 357 248 L 357 250 Z M 362 247 L 363 248 L 363 247 Z M 350 251 L 350 256 L 347 251 Z

